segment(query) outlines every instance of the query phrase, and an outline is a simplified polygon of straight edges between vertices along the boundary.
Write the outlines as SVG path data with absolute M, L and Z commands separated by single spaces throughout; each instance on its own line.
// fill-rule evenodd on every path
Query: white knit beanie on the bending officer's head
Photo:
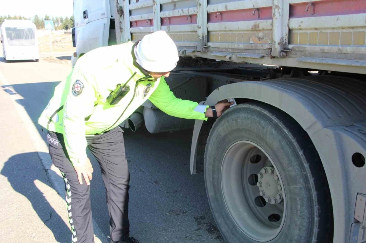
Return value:
M 143 69 L 156 73 L 170 72 L 179 60 L 175 43 L 162 30 L 145 35 L 137 44 L 135 55 Z

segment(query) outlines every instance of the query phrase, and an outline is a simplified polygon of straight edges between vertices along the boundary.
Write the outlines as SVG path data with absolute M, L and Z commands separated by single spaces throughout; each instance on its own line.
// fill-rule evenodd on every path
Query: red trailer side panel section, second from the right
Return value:
M 209 13 L 207 22 L 220 23 L 272 19 L 272 7 L 258 8 L 259 11 L 255 9 L 256 8 L 248 8 Z

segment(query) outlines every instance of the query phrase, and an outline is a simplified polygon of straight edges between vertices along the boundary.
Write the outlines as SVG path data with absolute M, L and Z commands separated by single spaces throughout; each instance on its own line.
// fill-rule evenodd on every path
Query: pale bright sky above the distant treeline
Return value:
M 0 16 L 21 15 L 33 18 L 34 15 L 44 17 L 70 17 L 73 14 L 73 0 L 0 0 Z

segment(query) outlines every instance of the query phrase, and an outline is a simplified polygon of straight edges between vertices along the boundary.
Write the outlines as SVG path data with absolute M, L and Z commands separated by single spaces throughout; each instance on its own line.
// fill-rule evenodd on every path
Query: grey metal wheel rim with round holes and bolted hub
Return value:
M 228 148 L 221 185 L 227 211 L 243 234 L 259 242 L 279 234 L 286 213 L 285 191 L 276 164 L 258 144 L 243 140 Z

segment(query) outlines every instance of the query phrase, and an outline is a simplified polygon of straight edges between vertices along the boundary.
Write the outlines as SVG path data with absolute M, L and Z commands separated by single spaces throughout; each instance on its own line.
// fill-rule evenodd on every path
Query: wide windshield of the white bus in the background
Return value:
M 33 28 L 5 27 L 10 46 L 32 46 L 35 44 Z

